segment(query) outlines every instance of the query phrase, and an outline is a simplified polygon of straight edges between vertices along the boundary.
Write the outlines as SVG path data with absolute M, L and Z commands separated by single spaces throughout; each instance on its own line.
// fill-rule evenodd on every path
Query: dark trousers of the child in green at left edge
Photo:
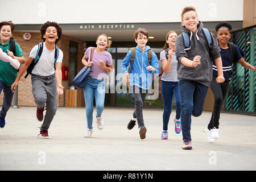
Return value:
M 11 87 L 6 85 L 2 80 L 0 80 L 0 94 L 3 90 L 3 105 L 1 109 L 1 117 L 5 117 L 7 111 L 10 109 L 13 102 L 13 92 L 11 92 Z

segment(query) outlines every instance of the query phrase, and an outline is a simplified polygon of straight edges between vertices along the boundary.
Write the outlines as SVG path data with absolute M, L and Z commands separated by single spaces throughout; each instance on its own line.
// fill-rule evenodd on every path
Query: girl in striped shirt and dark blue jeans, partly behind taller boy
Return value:
M 163 75 L 162 75 L 162 96 L 164 103 L 163 112 L 163 131 L 161 139 L 168 139 L 168 122 L 172 112 L 172 97 L 175 96 L 176 117 L 175 132 L 177 134 L 181 131 L 180 109 L 181 97 L 179 82 L 177 80 L 177 59 L 175 55 L 175 41 L 177 33 L 170 31 L 166 35 L 166 43 L 164 44 L 163 51 L 160 53 L 160 60 L 162 62 Z

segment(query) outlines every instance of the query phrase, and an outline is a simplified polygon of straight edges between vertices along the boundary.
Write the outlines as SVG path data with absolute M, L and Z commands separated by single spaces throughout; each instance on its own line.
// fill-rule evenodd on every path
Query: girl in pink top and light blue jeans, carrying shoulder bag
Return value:
M 96 119 L 97 127 L 102 130 L 104 123 L 101 113 L 104 110 L 105 101 L 105 78 L 106 73 L 111 72 L 113 69 L 112 55 L 106 51 L 110 47 L 111 41 L 106 34 L 101 34 L 96 40 L 97 47 L 89 47 L 82 57 L 82 64 L 85 67 L 90 67 L 90 74 L 86 78 L 84 87 L 84 100 L 86 110 L 87 129 L 84 137 L 92 135 L 92 122 L 93 122 L 93 98 L 96 101 Z M 93 51 L 93 52 L 92 52 Z M 92 54 L 93 53 L 93 54 Z M 92 55 L 92 58 L 90 57 Z

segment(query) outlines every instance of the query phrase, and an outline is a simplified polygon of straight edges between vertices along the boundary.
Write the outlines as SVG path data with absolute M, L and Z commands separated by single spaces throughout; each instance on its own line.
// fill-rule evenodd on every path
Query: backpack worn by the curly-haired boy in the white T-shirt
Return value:
M 43 52 L 43 43 L 39 43 L 38 44 L 38 52 L 36 53 L 36 57 L 35 57 L 35 59 L 32 60 L 29 67 L 27 68 L 27 74 L 26 74 L 25 78 L 27 78 L 28 75 L 31 75 L 32 70 L 34 69 L 36 63 L 38 63 L 38 60 L 40 59 L 40 56 L 42 55 L 42 52 Z M 59 57 L 59 47 L 57 47 L 55 45 L 54 69 L 56 69 L 55 65 L 56 65 L 56 61 L 57 61 L 58 57 Z

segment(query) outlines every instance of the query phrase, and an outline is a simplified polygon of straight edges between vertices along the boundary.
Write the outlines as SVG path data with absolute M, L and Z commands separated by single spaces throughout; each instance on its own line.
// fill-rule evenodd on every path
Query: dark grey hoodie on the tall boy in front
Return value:
M 184 39 L 182 34 L 177 36 L 175 43 L 175 53 L 178 60 L 177 64 L 177 78 L 178 80 L 193 80 L 200 82 L 205 86 L 210 86 L 210 81 L 212 81 L 212 61 L 220 56 L 220 47 L 218 47 L 218 40 L 212 32 L 210 33 L 212 36 L 213 47 L 209 50 L 209 46 L 207 43 L 207 39 L 204 36 L 204 32 L 202 30 L 203 23 L 199 22 L 197 25 L 196 33 L 189 31 L 187 28 L 181 26 L 181 30 L 183 32 L 189 33 L 190 46 L 187 52 L 184 51 Z M 192 34 L 192 36 L 191 36 Z M 180 63 L 182 57 L 187 57 L 189 60 L 193 60 L 193 58 L 199 55 L 201 56 L 200 63 L 196 68 L 185 67 Z M 212 56 L 210 56 L 212 55 Z

